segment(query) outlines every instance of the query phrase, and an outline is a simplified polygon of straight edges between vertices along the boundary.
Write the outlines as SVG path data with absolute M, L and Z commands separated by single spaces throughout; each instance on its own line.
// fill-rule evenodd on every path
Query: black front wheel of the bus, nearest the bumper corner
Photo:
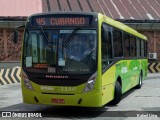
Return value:
M 121 101 L 121 96 L 122 96 L 121 85 L 117 81 L 116 84 L 115 84 L 114 99 L 110 103 L 112 105 L 118 104 Z

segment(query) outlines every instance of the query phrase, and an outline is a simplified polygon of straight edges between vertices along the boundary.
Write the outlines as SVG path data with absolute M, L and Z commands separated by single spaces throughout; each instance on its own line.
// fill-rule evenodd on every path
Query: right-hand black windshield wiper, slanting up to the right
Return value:
M 75 35 L 75 33 L 76 33 L 79 29 L 80 29 L 80 27 L 76 27 L 76 28 L 72 31 L 72 33 L 66 38 L 66 40 L 65 40 L 65 38 L 63 39 L 64 42 L 63 42 L 62 47 L 66 48 L 66 47 L 69 45 L 69 43 L 72 41 L 73 36 Z

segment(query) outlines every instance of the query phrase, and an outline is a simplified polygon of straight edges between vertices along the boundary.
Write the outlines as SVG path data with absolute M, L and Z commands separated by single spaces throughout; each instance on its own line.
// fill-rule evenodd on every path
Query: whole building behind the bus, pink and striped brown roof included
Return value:
M 149 67 L 160 72 L 160 0 L 1 0 L 0 60 L 20 59 L 21 41 L 17 46 L 10 42 L 10 28 L 30 14 L 52 11 L 100 12 L 133 27 L 148 37 L 150 57 L 157 54 L 149 59 Z

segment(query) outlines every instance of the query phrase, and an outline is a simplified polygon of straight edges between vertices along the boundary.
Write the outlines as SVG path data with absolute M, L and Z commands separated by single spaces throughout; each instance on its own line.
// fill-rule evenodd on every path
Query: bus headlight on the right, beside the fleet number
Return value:
M 85 85 L 83 92 L 90 92 L 94 89 L 96 78 L 89 79 Z

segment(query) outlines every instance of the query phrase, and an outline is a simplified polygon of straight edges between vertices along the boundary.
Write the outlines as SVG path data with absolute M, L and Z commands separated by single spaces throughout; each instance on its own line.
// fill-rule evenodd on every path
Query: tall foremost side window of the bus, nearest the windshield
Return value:
M 109 64 L 112 63 L 112 27 L 103 24 L 102 25 L 102 70 L 104 70 Z

